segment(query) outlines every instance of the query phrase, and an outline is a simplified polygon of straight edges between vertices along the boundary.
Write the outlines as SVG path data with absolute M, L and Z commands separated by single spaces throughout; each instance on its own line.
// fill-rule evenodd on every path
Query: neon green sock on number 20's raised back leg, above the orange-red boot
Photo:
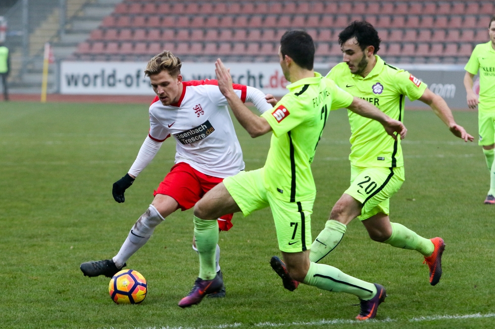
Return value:
M 392 235 L 387 241 L 383 242 L 384 244 L 402 249 L 416 250 L 424 256 L 431 256 L 433 250 L 435 250 L 435 246 L 431 240 L 419 236 L 416 232 L 409 230 L 404 225 L 398 223 L 390 224 L 392 224 Z

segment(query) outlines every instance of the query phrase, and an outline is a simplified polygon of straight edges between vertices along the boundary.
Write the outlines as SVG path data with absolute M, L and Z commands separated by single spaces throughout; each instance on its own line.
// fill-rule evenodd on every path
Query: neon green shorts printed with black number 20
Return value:
M 350 186 L 346 194 L 362 205 L 360 220 L 377 213 L 389 214 L 389 199 L 404 182 L 404 167 L 356 167 L 350 166 Z

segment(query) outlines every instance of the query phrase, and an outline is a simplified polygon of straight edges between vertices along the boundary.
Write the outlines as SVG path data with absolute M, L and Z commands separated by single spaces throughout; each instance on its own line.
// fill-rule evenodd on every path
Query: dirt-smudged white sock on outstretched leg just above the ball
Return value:
M 154 206 L 149 205 L 148 210 L 139 217 L 136 224 L 132 227 L 127 239 L 125 239 L 124 244 L 120 247 L 119 253 L 112 258 L 115 266 L 117 268 L 122 267 L 129 257 L 148 242 L 155 227 L 164 220 L 165 218 L 160 215 L 158 210 Z

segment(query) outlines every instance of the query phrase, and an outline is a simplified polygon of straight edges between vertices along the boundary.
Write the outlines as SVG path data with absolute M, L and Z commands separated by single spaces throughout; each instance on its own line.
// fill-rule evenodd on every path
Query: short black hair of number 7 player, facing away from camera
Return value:
M 313 38 L 304 31 L 287 31 L 280 39 L 282 56 L 291 57 L 303 69 L 313 69 L 314 51 Z

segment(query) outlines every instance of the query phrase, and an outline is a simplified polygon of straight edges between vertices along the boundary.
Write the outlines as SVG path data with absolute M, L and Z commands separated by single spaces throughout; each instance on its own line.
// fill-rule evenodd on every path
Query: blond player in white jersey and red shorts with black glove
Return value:
M 183 82 L 182 63 L 171 52 L 154 56 L 147 65 L 156 97 L 149 107 L 149 134 L 129 172 L 113 184 L 113 198 L 124 202 L 124 192 L 136 176 L 150 163 L 162 142 L 170 136 L 176 139 L 175 165 L 154 192 L 154 200 L 138 219 L 112 259 L 81 264 L 85 276 L 112 277 L 126 266 L 126 261 L 143 247 L 155 227 L 177 209 L 192 208 L 201 197 L 225 177 L 244 170 L 241 145 L 227 109 L 227 100 L 216 80 Z M 270 110 L 272 96 L 256 88 L 233 85 L 243 101 L 254 104 L 261 112 Z M 221 231 L 232 227 L 232 214 L 218 219 Z M 195 248 L 193 246 L 193 248 Z M 221 277 L 217 245 L 217 273 Z M 222 287 L 211 296 L 225 296 Z

